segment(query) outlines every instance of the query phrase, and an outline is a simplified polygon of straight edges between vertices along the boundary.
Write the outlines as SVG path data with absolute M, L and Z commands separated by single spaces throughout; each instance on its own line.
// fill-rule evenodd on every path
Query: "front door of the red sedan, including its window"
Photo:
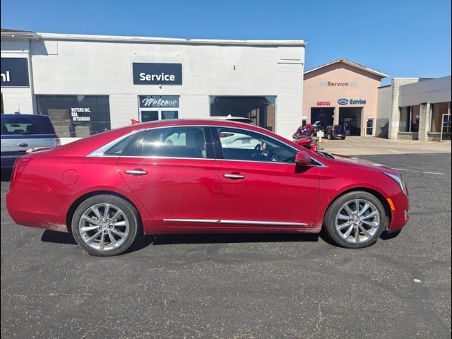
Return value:
M 319 201 L 317 167 L 297 167 L 297 150 L 258 131 L 213 127 L 211 133 L 222 225 L 313 226 Z

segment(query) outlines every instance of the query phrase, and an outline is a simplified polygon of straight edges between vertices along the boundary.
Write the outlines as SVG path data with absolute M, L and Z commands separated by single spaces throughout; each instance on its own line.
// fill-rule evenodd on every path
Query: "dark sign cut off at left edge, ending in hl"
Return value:
M 1 58 L 1 87 L 30 87 L 27 58 Z

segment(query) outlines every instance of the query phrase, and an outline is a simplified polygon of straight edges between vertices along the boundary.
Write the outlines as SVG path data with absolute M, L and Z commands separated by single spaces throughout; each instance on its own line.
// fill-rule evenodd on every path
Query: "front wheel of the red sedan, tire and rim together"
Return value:
M 388 224 L 381 201 L 366 191 L 352 191 L 336 199 L 323 226 L 339 246 L 356 249 L 374 244 Z

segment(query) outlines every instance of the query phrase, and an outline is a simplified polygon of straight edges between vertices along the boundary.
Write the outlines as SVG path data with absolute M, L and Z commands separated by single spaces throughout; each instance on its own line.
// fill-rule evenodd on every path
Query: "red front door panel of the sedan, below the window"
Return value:
M 231 179 L 230 174 L 243 179 Z M 222 222 L 297 222 L 313 227 L 319 200 L 317 167 L 296 172 L 292 164 L 219 160 L 218 177 Z

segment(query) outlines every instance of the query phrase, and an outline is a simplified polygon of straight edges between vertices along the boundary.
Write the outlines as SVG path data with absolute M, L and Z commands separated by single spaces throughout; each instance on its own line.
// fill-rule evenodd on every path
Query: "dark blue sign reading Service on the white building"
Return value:
M 182 64 L 134 62 L 134 85 L 182 85 Z

